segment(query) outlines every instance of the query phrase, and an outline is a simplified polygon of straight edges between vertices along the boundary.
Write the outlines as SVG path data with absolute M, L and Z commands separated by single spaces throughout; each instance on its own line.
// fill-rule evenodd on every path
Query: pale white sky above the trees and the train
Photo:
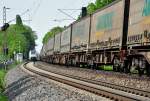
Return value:
M 46 32 L 55 26 L 68 25 L 73 21 L 54 22 L 54 19 L 70 19 L 66 15 L 60 13 L 57 9 L 80 9 L 82 6 L 87 6 L 88 3 L 95 0 L 0 0 L 0 26 L 2 26 L 3 7 L 10 8 L 7 10 L 7 21 L 14 19 L 16 14 L 22 14 L 27 9 L 30 11 L 22 16 L 22 20 L 32 20 L 24 22 L 29 25 L 38 35 L 36 40 L 37 51 L 40 52 L 42 47 L 42 39 Z M 74 18 L 81 11 L 65 11 Z M 15 23 L 15 22 L 13 22 Z

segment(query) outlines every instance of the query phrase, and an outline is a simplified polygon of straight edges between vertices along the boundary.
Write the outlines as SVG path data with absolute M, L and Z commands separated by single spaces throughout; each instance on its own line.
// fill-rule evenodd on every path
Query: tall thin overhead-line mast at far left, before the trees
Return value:
M 3 7 L 3 26 L 6 24 L 6 10 L 10 8 L 6 8 L 5 6 Z M 3 51 L 4 55 L 7 56 L 8 54 L 8 47 L 7 47 L 7 33 L 6 30 L 4 31 L 4 44 L 3 44 Z

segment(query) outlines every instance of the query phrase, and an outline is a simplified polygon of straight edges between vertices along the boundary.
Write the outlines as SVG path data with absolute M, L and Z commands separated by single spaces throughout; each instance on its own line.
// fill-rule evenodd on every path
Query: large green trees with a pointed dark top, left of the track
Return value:
M 9 57 L 13 57 L 14 51 L 16 53 L 22 52 L 27 56 L 29 50 L 35 47 L 35 39 L 37 39 L 37 36 L 30 27 L 22 24 L 19 15 L 16 16 L 16 24 L 10 25 L 6 32 L 0 31 L 0 54 L 3 53 L 2 48 L 5 42 L 5 34 L 7 35 Z

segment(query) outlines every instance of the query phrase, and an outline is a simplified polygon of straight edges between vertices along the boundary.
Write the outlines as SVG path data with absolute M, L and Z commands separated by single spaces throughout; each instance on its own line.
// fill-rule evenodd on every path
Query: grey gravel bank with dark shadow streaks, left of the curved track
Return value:
M 5 94 L 9 101 L 110 101 L 67 85 L 60 86 L 56 82 L 45 80 L 46 78 L 31 76 L 21 68 L 10 70 L 5 78 Z

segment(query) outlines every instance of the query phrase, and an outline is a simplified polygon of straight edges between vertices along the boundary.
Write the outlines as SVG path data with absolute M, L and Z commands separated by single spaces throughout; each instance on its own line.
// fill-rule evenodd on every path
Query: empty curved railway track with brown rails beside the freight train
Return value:
M 150 101 L 150 98 L 148 97 L 149 94 L 147 94 L 146 92 L 144 94 L 146 94 L 144 96 L 140 96 L 140 95 L 136 95 L 136 94 L 131 94 L 126 91 L 126 88 L 123 88 L 124 90 L 121 91 L 122 89 L 120 88 L 120 90 L 116 89 L 115 86 L 113 85 L 109 85 L 109 84 L 104 84 L 101 85 L 100 83 L 96 82 L 96 81 L 91 81 L 91 80 L 83 80 L 83 78 L 78 78 L 78 77 L 72 77 L 71 75 L 67 75 L 67 74 L 59 74 L 59 73 L 54 73 L 54 72 L 50 72 L 47 70 L 42 70 L 40 68 L 40 66 L 38 67 L 29 67 L 27 66 L 27 63 L 24 64 L 24 68 L 34 72 L 38 75 L 44 76 L 46 78 L 49 79 L 53 79 L 55 81 L 61 82 L 61 83 L 65 83 L 71 86 L 74 86 L 76 88 L 80 88 L 92 93 L 95 93 L 97 95 L 109 98 L 111 100 L 115 100 L 115 101 Z M 137 90 L 134 90 L 137 93 Z M 138 90 L 139 94 L 143 94 L 142 91 Z

